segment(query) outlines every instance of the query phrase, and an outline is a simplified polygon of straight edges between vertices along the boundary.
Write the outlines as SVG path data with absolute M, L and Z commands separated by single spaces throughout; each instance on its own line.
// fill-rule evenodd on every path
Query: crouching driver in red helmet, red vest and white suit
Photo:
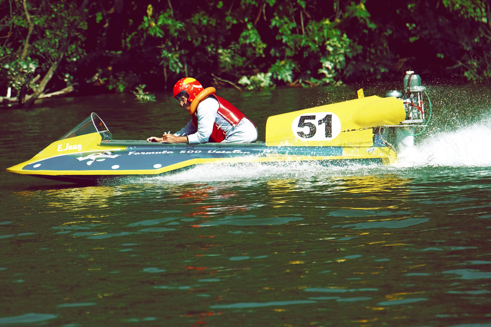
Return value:
M 213 87 L 203 89 L 194 78 L 181 78 L 174 85 L 173 96 L 192 115 L 181 130 L 162 137 L 149 137 L 147 142 L 205 143 L 257 140 L 257 128 L 239 109 L 215 94 Z

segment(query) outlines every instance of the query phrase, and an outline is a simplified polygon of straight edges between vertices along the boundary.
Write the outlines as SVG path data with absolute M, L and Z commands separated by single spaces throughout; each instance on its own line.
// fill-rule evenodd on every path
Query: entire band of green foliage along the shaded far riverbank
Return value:
M 212 73 L 247 89 L 338 85 L 429 67 L 491 78 L 484 0 L 383 7 L 367 0 L 113 0 L 107 7 L 87 0 L 84 10 L 74 1 L 26 1 L 27 12 L 22 1 L 8 1 L 11 14 L 0 19 L 0 81 L 17 92 L 55 62 L 52 84 L 97 80 L 134 93 L 136 85 L 170 88 L 184 75 L 211 83 Z

